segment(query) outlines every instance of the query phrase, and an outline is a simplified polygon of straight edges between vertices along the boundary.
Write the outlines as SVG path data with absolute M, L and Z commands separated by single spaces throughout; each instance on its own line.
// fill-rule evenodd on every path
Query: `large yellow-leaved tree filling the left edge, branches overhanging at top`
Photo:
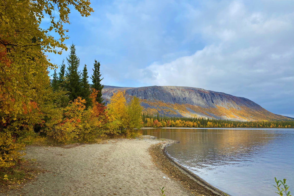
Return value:
M 70 6 L 82 16 L 93 11 L 89 0 L 0 1 L 0 167 L 14 165 L 33 126 L 43 121 L 39 97 L 48 90 L 47 68 L 54 67 L 44 52 L 67 49 L 63 24 L 69 24 Z M 44 15 L 50 18 L 47 29 L 40 27 Z

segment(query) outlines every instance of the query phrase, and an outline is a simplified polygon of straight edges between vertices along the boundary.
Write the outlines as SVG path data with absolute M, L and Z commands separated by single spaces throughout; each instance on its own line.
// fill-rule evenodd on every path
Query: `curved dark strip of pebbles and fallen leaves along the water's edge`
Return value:
M 153 162 L 164 173 L 166 173 L 169 177 L 173 179 L 181 181 L 183 187 L 191 191 L 191 193 L 195 195 L 230 196 L 229 194 L 219 190 L 218 188 L 213 187 L 201 177 L 173 160 L 166 151 L 166 147 L 173 143 L 179 143 L 179 141 L 164 139 L 162 143 L 154 144 L 149 148 L 149 154 L 151 155 Z M 168 167 L 168 170 L 166 170 L 166 167 Z M 176 170 L 178 170 L 178 172 Z M 184 182 L 183 180 L 188 182 Z

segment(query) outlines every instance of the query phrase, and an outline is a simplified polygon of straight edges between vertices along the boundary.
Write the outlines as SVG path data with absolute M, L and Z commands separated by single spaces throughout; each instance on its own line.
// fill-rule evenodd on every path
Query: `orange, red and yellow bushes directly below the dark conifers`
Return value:
M 106 106 L 96 101 L 98 91 L 92 89 L 92 107 L 86 110 L 84 99 L 76 98 L 63 108 L 62 115 L 52 118 L 45 130 L 47 137 L 61 143 L 91 142 L 98 137 L 115 134 L 108 124 Z

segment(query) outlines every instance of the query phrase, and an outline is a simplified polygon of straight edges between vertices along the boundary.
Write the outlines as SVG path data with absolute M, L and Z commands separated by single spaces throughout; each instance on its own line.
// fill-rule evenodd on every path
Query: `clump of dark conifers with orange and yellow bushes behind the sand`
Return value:
M 132 134 L 134 128 L 142 125 L 142 108 L 139 99 L 126 103 L 124 92 L 118 91 L 111 97 L 108 107 L 102 99 L 100 62 L 94 61 L 93 85 L 89 85 L 87 66 L 82 73 L 78 71 L 80 59 L 76 55 L 75 45 L 70 54 L 61 63 L 60 72 L 54 70 L 51 88 L 53 90 L 54 116 L 44 121 L 40 132 L 47 138 L 62 143 L 71 141 L 90 142 L 107 135 Z

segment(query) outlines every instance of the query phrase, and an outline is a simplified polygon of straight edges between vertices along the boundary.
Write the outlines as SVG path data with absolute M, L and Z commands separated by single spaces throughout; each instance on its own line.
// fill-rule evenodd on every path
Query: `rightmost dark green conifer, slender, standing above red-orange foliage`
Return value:
M 94 69 L 93 69 L 93 75 L 91 77 L 93 85 L 92 88 L 95 88 L 96 91 L 99 91 L 96 97 L 96 101 L 98 103 L 102 103 L 103 99 L 102 99 L 102 88 L 104 87 L 103 85 L 101 85 L 101 80 L 103 80 L 103 78 L 101 78 L 101 74 L 100 74 L 100 62 L 96 61 L 95 59 L 95 63 L 94 63 Z

